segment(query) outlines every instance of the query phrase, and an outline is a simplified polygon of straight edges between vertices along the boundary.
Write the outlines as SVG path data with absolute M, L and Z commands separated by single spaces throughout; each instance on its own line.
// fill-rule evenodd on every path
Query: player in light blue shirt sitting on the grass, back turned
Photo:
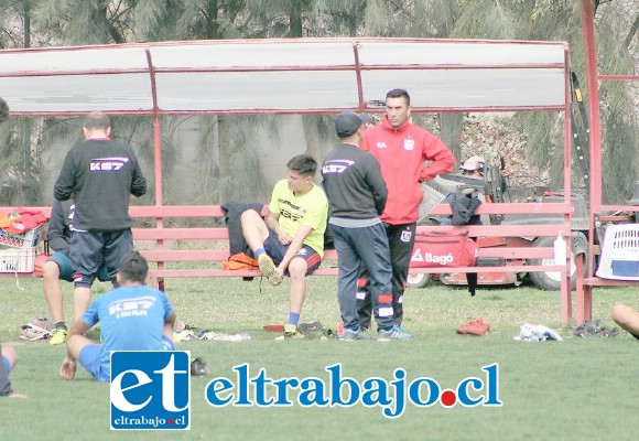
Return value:
M 119 267 L 120 288 L 97 298 L 72 325 L 67 356 L 59 375 L 73 379 L 76 361 L 97 380 L 109 381 L 111 351 L 172 351 L 175 312 L 166 294 L 145 286 L 147 260 L 137 251 L 126 255 Z M 102 344 L 84 334 L 100 322 Z

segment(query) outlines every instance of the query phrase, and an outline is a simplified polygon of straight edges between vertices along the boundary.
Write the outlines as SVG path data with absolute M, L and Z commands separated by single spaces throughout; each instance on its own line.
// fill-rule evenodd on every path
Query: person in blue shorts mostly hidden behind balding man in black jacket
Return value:
M 68 257 L 75 203 L 68 201 L 53 201 L 51 217 L 48 218 L 47 243 L 54 254 L 42 266 L 42 286 L 44 298 L 53 316 L 54 327 L 51 330 L 48 343 L 58 345 L 66 342 L 67 327 L 64 321 L 63 292 L 61 280 L 73 282 L 73 263 Z M 101 282 L 109 280 L 109 271 L 101 265 L 96 275 Z

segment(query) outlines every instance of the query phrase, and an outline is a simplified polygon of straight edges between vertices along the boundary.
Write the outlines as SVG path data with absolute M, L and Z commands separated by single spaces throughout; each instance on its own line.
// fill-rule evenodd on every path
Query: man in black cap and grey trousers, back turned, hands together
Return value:
M 379 163 L 359 149 L 366 130 L 366 115 L 344 111 L 335 119 L 340 144 L 326 157 L 322 166 L 328 196 L 328 224 L 338 255 L 337 298 L 344 321 L 342 340 L 369 340 L 359 325 L 357 278 L 364 265 L 370 277 L 371 301 L 378 325 L 378 341 L 409 340 L 393 321 L 392 266 L 388 238 L 380 215 L 388 191 Z

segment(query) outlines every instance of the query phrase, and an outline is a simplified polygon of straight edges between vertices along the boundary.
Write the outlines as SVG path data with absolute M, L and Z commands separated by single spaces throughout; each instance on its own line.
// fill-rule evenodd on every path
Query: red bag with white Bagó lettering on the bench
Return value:
M 415 235 L 410 267 L 473 267 L 476 261 L 477 244 L 468 232 L 432 232 Z

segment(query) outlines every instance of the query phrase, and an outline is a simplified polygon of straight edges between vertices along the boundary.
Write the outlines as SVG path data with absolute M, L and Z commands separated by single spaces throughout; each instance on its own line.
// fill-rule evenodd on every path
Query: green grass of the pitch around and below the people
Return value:
M 0 281 L 2 321 L 0 338 L 17 342 L 20 325 L 33 315 L 48 315 L 41 281 Z M 97 287 L 104 292 L 105 286 Z M 212 377 L 193 378 L 192 430 L 171 432 L 109 431 L 108 386 L 89 378 L 82 368 L 74 381 L 57 375 L 63 347 L 46 343 L 13 343 L 20 354 L 11 374 L 25 400 L 2 400 L 0 439 L 68 440 L 630 440 L 636 438 L 636 373 L 639 342 L 628 334 L 615 338 L 519 343 L 512 336 L 523 322 L 560 329 L 559 292 L 531 287 L 481 288 L 475 298 L 463 288 L 433 284 L 409 290 L 404 327 L 412 342 L 335 341 L 274 342 L 262 331 L 282 323 L 288 313 L 286 283 L 236 279 L 167 280 L 166 290 L 184 322 L 220 332 L 249 332 L 242 343 L 191 342 L 177 344 L 203 357 Z M 321 321 L 334 327 L 339 321 L 335 279 L 310 279 L 302 321 Z M 65 309 L 71 316 L 72 287 L 65 286 Z M 597 289 L 594 318 L 613 325 L 610 308 L 620 301 L 638 306 L 636 288 Z M 477 316 L 492 326 L 483 337 L 461 336 L 455 327 Z M 213 408 L 204 399 L 213 377 L 235 378 L 231 368 L 249 363 L 254 375 L 264 368 L 271 378 L 317 376 L 342 363 L 344 375 L 358 380 L 380 376 L 392 380 L 401 367 L 409 379 L 432 377 L 443 388 L 468 376 L 484 378 L 481 367 L 499 363 L 499 408 L 409 405 L 394 420 L 379 407 L 365 408 Z

